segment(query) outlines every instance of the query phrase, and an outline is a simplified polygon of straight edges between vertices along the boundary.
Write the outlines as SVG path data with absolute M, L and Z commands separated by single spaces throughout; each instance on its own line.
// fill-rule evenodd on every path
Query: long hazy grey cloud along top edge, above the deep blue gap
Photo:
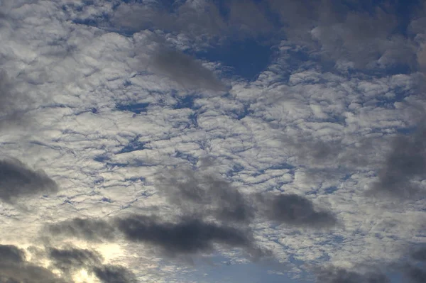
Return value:
M 182 1 L 171 6 L 158 2 L 150 4 L 121 4 L 111 18 L 117 26 L 141 30 L 160 28 L 184 33 L 194 40 L 211 38 L 246 38 L 271 32 L 273 26 L 266 18 L 266 7 L 254 1 L 226 1 L 224 17 L 214 1 Z

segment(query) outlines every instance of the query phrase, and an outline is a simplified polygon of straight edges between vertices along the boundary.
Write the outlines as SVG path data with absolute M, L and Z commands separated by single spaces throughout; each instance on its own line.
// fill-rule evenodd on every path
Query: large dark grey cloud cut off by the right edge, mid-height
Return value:
M 413 181 L 426 176 L 426 128 L 411 135 L 400 135 L 391 147 L 383 168 L 378 173 L 378 182 L 373 184 L 370 194 L 389 194 L 410 197 L 421 192 Z

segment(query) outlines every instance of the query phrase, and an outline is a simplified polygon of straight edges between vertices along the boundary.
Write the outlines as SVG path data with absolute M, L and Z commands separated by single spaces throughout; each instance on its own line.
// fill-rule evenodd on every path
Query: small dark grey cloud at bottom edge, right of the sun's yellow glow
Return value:
M 119 265 L 104 265 L 94 267 L 94 274 L 102 283 L 136 283 L 136 277 L 125 267 Z

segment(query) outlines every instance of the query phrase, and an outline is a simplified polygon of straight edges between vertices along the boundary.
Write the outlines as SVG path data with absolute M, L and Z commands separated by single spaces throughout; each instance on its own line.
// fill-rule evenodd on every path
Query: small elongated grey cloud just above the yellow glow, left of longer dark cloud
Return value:
M 46 229 L 53 236 L 84 238 L 91 241 L 110 240 L 114 238 L 115 230 L 107 221 L 83 218 L 50 224 Z

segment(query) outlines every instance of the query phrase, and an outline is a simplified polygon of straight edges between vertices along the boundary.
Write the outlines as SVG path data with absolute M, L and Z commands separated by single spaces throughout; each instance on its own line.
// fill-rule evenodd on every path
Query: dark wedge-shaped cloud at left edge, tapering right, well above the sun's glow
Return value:
M 9 203 L 19 196 L 54 193 L 58 186 L 43 171 L 34 171 L 21 161 L 0 160 L 0 199 Z

